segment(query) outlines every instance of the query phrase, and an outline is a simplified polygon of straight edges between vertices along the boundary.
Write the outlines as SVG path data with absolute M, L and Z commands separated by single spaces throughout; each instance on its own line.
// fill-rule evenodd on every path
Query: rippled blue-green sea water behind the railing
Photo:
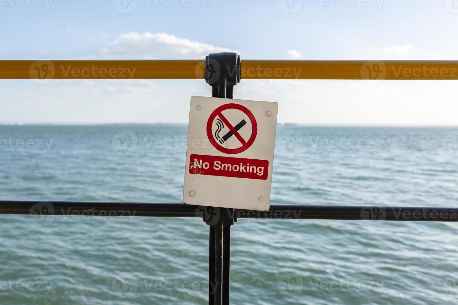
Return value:
M 271 204 L 457 207 L 456 129 L 278 126 Z M 0 200 L 180 203 L 186 137 L 0 126 Z M 0 215 L 0 304 L 207 304 L 202 220 L 42 220 Z M 239 219 L 231 237 L 232 304 L 457 303 L 456 223 Z

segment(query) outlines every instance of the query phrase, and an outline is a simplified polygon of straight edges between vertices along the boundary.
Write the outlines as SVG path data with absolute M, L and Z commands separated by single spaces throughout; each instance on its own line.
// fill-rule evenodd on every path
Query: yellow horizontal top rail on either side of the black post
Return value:
M 1 60 L 0 79 L 203 79 L 203 60 Z M 458 61 L 242 60 L 242 79 L 458 80 Z

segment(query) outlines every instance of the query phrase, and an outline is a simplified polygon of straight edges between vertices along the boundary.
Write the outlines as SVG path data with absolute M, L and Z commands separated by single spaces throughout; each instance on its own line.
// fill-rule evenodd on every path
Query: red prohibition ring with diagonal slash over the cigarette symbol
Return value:
M 227 109 L 240 110 L 240 111 L 244 112 L 248 116 L 248 118 L 250 118 L 252 128 L 251 128 L 251 136 L 250 136 L 250 139 L 248 139 L 248 141 L 245 142 L 245 140 L 240 136 L 238 131 L 236 131 L 234 129 L 234 127 L 228 122 L 228 120 L 221 113 L 221 112 L 223 112 L 224 110 L 227 110 Z M 217 116 L 223 120 L 223 122 L 230 129 L 230 131 L 232 131 L 232 133 L 237 137 L 237 139 L 239 139 L 239 141 L 242 144 L 242 146 L 240 146 L 239 148 L 229 149 L 229 148 L 223 147 L 220 144 L 218 144 L 218 142 L 215 140 L 215 138 L 213 138 L 213 133 L 212 133 L 212 123 L 213 123 L 213 120 Z M 248 108 L 246 108 L 246 107 L 244 107 L 242 105 L 232 103 L 232 104 L 225 104 L 225 105 L 219 106 L 218 108 L 216 108 L 212 112 L 212 114 L 210 114 L 210 117 L 208 118 L 208 122 L 207 122 L 207 137 L 210 140 L 210 143 L 212 143 L 212 145 L 217 150 L 219 150 L 219 151 L 221 151 L 221 152 L 223 152 L 225 154 L 232 154 L 232 155 L 233 154 L 240 154 L 241 152 L 244 152 L 245 150 L 249 149 L 251 144 L 253 144 L 255 139 L 256 139 L 256 134 L 257 134 L 257 123 L 256 123 L 255 116 L 253 115 L 253 113 L 251 113 L 250 110 L 248 110 Z M 242 140 L 240 140 L 240 139 L 242 139 Z

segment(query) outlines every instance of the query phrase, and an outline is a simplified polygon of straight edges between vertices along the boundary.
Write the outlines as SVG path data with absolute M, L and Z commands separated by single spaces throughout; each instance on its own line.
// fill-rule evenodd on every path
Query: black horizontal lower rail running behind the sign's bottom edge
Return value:
M 183 203 L 0 201 L 0 214 L 203 218 L 205 207 Z M 217 208 L 215 208 L 217 210 Z M 268 211 L 237 209 L 237 218 L 372 221 L 458 221 L 458 208 L 273 204 Z

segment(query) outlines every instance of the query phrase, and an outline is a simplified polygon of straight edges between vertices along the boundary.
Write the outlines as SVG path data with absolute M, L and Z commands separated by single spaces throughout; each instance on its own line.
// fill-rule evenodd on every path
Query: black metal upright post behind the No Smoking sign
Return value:
M 212 86 L 213 97 L 233 98 L 234 86 L 240 82 L 240 56 L 208 55 L 205 80 Z M 230 226 L 237 221 L 237 210 L 207 207 L 203 217 L 210 225 L 208 304 L 229 305 Z

